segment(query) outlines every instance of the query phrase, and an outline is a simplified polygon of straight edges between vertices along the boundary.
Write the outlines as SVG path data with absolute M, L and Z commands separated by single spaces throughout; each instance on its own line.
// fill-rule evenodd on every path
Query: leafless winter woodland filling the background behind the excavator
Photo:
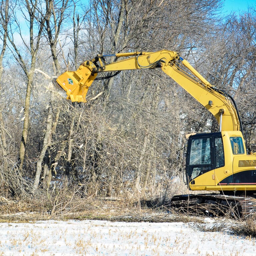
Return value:
M 179 52 L 234 97 L 248 150 L 255 150 L 256 6 L 227 14 L 223 4 L 2 1 L 1 198 L 48 200 L 53 208 L 77 197 L 152 198 L 186 189 L 185 134 L 216 131 L 213 116 L 161 70 L 95 81 L 86 104 L 71 104 L 53 79 L 97 54 Z

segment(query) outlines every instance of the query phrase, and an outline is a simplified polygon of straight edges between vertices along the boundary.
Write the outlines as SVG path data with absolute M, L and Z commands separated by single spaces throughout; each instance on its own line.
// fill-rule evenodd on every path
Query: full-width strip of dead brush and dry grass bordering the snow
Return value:
M 156 200 L 155 205 L 143 203 L 142 195 L 131 190 L 119 194 L 118 197 L 84 196 L 81 187 L 69 190 L 55 188 L 54 190 L 38 190 L 33 196 L 0 197 L 0 222 L 28 222 L 38 220 L 108 220 L 123 222 L 183 222 L 189 223 L 195 230 L 203 232 L 229 232 L 243 237 L 256 237 L 256 216 L 246 220 L 211 218 L 205 220 L 202 214 L 188 214 L 179 209 L 170 209 L 163 204 L 167 197 L 176 192 L 169 188 L 168 193 L 162 190 L 162 200 Z M 183 191 L 184 193 L 186 191 Z M 157 193 L 144 197 L 159 195 Z M 140 197 L 141 196 L 141 197 Z M 209 216 L 208 216 L 209 217 Z

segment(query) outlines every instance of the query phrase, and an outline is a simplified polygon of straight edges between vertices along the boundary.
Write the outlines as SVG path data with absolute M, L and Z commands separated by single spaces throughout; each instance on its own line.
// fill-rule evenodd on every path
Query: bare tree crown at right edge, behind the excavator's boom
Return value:
M 253 10 L 227 17 L 226 22 L 220 25 L 222 33 L 207 45 L 207 53 L 203 56 L 211 63 L 204 68 L 208 69 L 211 83 L 226 90 L 236 100 L 243 126 L 248 133 L 247 136 L 244 134 L 248 138 L 248 144 L 255 143 L 254 20 Z

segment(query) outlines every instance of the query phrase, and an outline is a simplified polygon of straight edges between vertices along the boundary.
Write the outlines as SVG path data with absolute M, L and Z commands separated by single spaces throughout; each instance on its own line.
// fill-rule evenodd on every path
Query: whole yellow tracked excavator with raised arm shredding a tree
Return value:
M 117 61 L 107 64 L 106 58 L 112 56 Z M 256 199 L 253 196 L 256 193 L 256 154 L 247 154 L 236 103 L 227 92 L 211 85 L 177 52 L 161 50 L 97 55 L 82 63 L 76 71 L 63 73 L 56 82 L 66 91 L 67 99 L 86 102 L 87 91 L 98 73 L 155 68 L 161 69 L 183 87 L 219 123 L 217 132 L 189 136 L 184 176 L 190 190 L 221 191 L 229 194 L 229 197 L 227 199 L 220 193 L 191 194 L 190 198 L 196 201 L 195 204 L 214 201 L 218 205 L 236 205 L 236 208 L 240 208 L 239 216 L 256 211 Z M 239 192 L 245 195 L 234 196 L 234 192 L 236 195 Z M 179 196 L 176 201 L 186 202 L 188 197 Z

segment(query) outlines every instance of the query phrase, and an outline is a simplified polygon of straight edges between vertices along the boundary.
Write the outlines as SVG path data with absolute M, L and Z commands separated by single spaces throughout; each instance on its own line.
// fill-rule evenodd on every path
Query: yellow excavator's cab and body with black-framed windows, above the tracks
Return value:
M 186 154 L 190 190 L 255 191 L 256 160 L 240 131 L 191 135 Z

